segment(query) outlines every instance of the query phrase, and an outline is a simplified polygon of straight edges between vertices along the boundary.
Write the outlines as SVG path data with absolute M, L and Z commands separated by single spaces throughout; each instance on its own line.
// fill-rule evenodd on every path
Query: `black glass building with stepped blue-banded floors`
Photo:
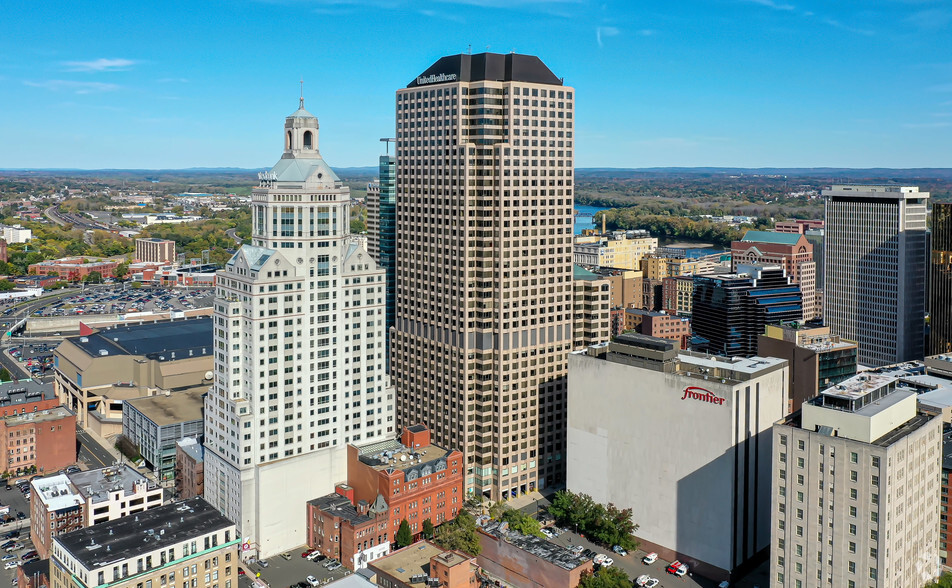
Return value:
M 738 273 L 694 276 L 693 347 L 750 357 L 764 327 L 803 318 L 800 287 L 779 266 L 738 266 Z

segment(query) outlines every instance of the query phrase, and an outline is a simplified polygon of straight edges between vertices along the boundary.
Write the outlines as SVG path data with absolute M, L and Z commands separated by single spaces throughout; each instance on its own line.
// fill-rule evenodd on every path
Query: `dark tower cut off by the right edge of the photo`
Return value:
M 952 352 L 952 203 L 932 205 L 929 354 Z

